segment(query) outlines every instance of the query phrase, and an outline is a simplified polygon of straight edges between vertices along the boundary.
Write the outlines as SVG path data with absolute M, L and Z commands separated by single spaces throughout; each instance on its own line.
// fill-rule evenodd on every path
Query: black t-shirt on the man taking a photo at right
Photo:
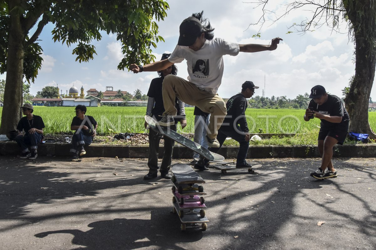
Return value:
M 331 123 L 330 121 L 326 121 L 324 119 L 320 119 L 321 123 L 320 126 L 321 128 L 325 129 L 347 129 L 349 122 L 350 122 L 350 117 L 349 114 L 347 113 L 345 107 L 343 106 L 343 103 L 340 99 L 340 97 L 328 94 L 328 99 L 325 103 L 322 105 L 317 105 L 315 101 L 312 99 L 309 104 L 308 108 L 320 112 L 323 115 L 330 115 L 330 116 L 341 116 L 342 121 L 340 123 Z

